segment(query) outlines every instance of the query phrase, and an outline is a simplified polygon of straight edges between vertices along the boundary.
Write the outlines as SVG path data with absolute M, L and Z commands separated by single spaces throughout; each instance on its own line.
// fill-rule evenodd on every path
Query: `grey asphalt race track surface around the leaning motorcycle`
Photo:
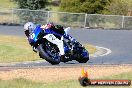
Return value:
M 24 36 L 22 26 L 0 26 L 0 34 Z M 106 56 L 92 57 L 86 64 L 76 61 L 60 63 L 59 66 L 95 65 L 95 64 L 132 64 L 132 31 L 131 30 L 101 30 L 101 29 L 71 29 L 70 34 L 81 43 L 106 47 L 112 53 Z M 29 57 L 30 58 L 30 57 Z M 32 67 L 51 66 L 48 62 L 37 61 L 29 63 L 16 63 L 12 66 Z

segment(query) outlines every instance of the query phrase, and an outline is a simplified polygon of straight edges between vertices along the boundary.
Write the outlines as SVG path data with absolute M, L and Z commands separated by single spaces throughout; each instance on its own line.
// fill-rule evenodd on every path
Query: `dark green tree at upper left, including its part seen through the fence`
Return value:
M 47 14 L 43 11 L 32 11 L 45 8 L 47 0 L 14 0 L 20 9 L 29 10 L 14 10 L 19 17 L 21 24 L 28 21 L 34 23 L 46 23 Z

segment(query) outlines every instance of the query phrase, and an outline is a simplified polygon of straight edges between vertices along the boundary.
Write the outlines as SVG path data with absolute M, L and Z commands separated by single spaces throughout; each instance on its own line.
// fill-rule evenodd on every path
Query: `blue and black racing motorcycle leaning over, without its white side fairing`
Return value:
M 67 31 L 65 31 L 65 33 L 68 34 Z M 52 65 L 59 64 L 61 62 L 59 48 L 57 45 L 48 41 L 45 38 L 45 34 L 44 30 L 38 27 L 33 32 L 30 39 L 35 42 L 34 47 L 37 48 L 40 58 L 45 59 Z M 66 62 L 76 60 L 79 63 L 86 63 L 89 60 L 89 52 L 81 43 L 77 41 L 71 42 L 56 32 L 53 32 L 48 36 L 54 39 L 54 37 L 50 35 L 61 37 L 61 40 L 63 41 L 65 59 L 67 60 Z

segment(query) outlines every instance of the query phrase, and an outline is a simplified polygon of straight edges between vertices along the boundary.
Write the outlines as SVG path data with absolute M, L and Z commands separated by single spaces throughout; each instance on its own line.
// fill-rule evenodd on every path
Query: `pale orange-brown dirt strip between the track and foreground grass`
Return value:
M 10 80 L 14 78 L 25 78 L 33 81 L 53 82 L 69 79 L 78 79 L 81 76 L 83 67 L 73 68 L 32 68 L 32 69 L 16 69 L 11 71 L 0 71 L 1 80 Z M 121 66 L 87 66 L 84 67 L 88 71 L 90 78 L 100 78 L 104 76 L 116 75 L 123 72 L 132 71 L 131 65 Z

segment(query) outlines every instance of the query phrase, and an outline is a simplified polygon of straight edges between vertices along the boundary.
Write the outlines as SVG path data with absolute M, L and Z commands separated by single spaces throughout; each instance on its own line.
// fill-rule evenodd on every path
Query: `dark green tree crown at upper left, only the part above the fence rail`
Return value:
M 14 0 L 20 9 L 37 10 L 45 8 L 47 0 Z

